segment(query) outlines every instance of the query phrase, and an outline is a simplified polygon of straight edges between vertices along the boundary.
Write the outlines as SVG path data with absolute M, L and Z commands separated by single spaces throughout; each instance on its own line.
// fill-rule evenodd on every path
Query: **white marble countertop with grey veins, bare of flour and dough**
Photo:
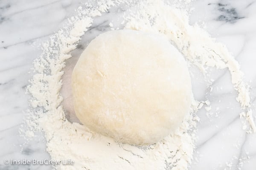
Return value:
M 25 140 L 19 136 L 28 108 L 24 88 L 31 78 L 32 61 L 41 53 L 38 45 L 60 29 L 80 4 L 80 0 L 0 1 L 0 170 L 51 169 L 47 165 L 10 165 L 4 160 L 50 159 L 42 140 L 23 145 Z M 239 61 L 244 80 L 251 86 L 256 115 L 256 0 L 196 0 L 193 7 L 191 24 L 205 23 L 212 37 L 227 45 Z M 103 15 L 104 22 L 98 20 L 95 28 L 108 25 L 115 15 Z M 87 39 L 93 37 L 88 34 Z M 78 57 L 79 51 L 73 55 Z M 212 70 L 212 92 L 204 81 L 197 81 L 200 77 L 194 78 L 195 98 L 209 99 L 212 109 L 198 112 L 197 148 L 189 169 L 256 170 L 256 134 L 242 130 L 241 108 L 229 72 Z

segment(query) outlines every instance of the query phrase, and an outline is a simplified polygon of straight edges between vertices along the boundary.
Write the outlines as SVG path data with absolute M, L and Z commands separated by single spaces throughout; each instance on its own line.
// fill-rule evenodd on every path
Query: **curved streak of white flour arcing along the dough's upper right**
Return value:
M 227 48 L 200 28 L 190 26 L 186 12 L 166 5 L 162 0 L 148 0 L 139 4 L 139 10 L 128 18 L 126 28 L 143 30 L 155 34 L 164 34 L 183 53 L 183 55 L 204 74 L 207 68 L 228 68 L 232 83 L 238 93 L 236 100 L 245 111 L 245 118 L 250 124 L 248 133 L 256 132 L 250 109 L 249 88 L 243 82 L 243 73 L 239 63 L 228 52 Z M 244 122 L 245 124 L 245 122 Z

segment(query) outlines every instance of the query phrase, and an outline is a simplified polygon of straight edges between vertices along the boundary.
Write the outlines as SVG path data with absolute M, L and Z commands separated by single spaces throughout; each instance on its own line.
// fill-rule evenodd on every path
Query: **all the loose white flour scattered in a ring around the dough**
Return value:
M 185 1 L 186 5 L 188 3 Z M 80 37 L 91 26 L 93 17 L 100 16 L 101 12 L 115 4 L 119 2 L 108 0 L 94 4 L 93 8 L 79 8 L 77 15 L 70 18 L 69 26 L 42 45 L 43 53 L 35 61 L 35 75 L 27 87 L 34 109 L 28 113 L 25 136 L 32 137 L 35 131 L 43 130 L 47 152 L 52 159 L 71 159 L 75 162 L 74 165 L 57 165 L 55 168 L 58 170 L 187 170 L 192 161 L 198 121 L 194 113 L 204 104 L 209 105 L 207 101 L 199 103 L 193 100 L 191 112 L 174 134 L 145 147 L 116 143 L 66 119 L 60 95 L 65 60 L 72 57 L 70 51 L 76 48 Z M 247 85 L 242 82 L 238 63 L 224 45 L 216 43 L 199 26 L 189 26 L 186 13 L 164 5 L 161 0 L 143 1 L 134 5 L 125 16 L 125 22 L 126 28 L 165 34 L 205 74 L 208 66 L 229 68 L 238 91 L 237 100 L 244 109 L 241 116 L 247 118 L 253 130 L 256 129 Z M 250 128 L 245 129 L 250 132 Z

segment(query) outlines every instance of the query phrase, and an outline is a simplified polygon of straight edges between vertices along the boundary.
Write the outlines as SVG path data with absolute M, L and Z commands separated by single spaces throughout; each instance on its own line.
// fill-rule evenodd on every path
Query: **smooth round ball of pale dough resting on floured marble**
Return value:
M 142 31 L 100 34 L 72 74 L 76 116 L 117 142 L 153 144 L 174 131 L 191 105 L 186 62 L 169 41 Z

